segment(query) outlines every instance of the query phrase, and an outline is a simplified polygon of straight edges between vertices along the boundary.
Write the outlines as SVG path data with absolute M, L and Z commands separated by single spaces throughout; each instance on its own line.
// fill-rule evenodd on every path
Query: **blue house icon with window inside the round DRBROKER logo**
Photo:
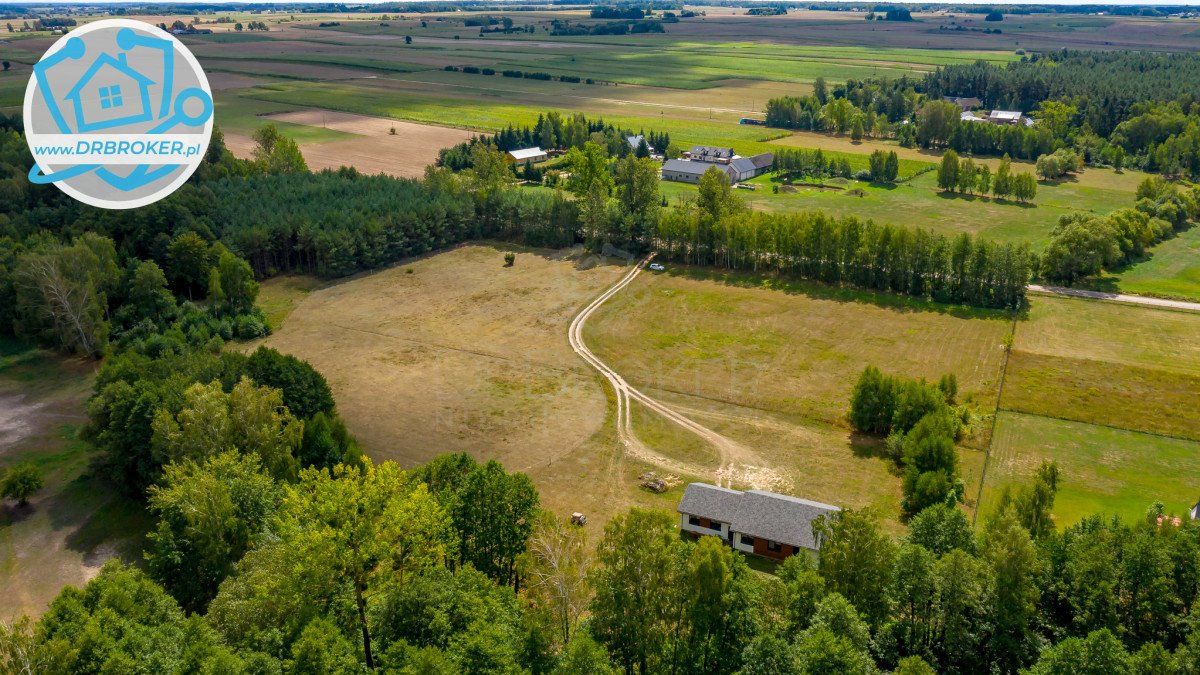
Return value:
M 154 119 L 154 80 L 132 68 L 126 55 L 101 54 L 64 98 L 76 112 L 77 133 L 88 133 Z

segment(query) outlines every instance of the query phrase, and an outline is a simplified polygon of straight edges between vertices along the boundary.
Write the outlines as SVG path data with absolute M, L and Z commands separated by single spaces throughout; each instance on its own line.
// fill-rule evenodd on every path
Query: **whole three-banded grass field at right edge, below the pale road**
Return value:
M 1200 496 L 1200 313 L 1032 295 L 1004 381 L 983 509 L 1043 459 L 1058 521 Z

